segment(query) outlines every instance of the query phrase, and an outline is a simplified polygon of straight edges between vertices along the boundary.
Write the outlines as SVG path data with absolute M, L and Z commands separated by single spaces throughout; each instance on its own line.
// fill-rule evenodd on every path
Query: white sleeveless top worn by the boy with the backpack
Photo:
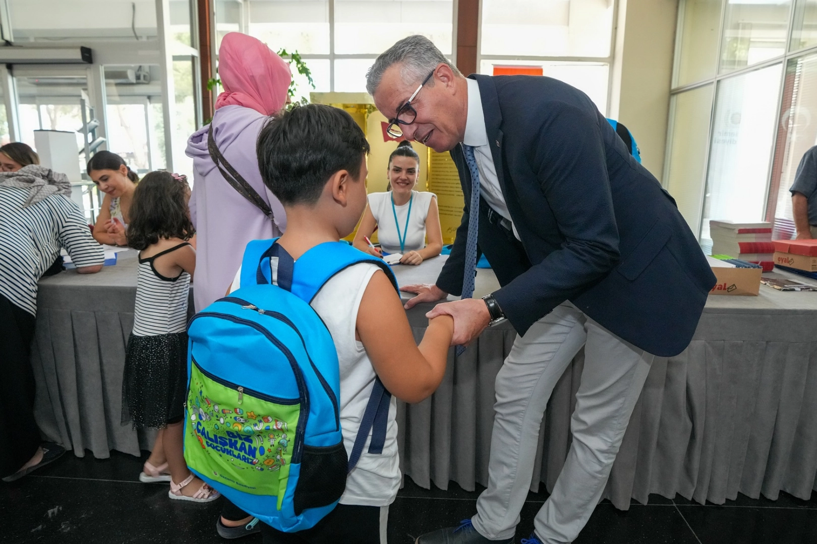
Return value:
M 271 264 L 277 266 L 277 261 L 271 260 Z M 332 334 L 337 349 L 341 370 L 341 428 L 347 455 L 351 454 L 355 445 L 360 420 L 363 419 L 377 377 L 363 343 L 355 340 L 355 329 L 360 300 L 368 281 L 378 270 L 380 268 L 371 263 L 358 263 L 346 268 L 327 281 L 311 303 Z M 271 272 L 275 278 L 277 270 Z M 239 288 L 240 281 L 239 268 L 230 293 Z M 396 417 L 397 400 L 392 396 L 383 452 L 379 455 L 368 453 L 368 444 L 372 440 L 370 432 L 358 464 L 346 476 L 346 491 L 341 497 L 341 504 L 388 506 L 394 502 L 401 480 Z

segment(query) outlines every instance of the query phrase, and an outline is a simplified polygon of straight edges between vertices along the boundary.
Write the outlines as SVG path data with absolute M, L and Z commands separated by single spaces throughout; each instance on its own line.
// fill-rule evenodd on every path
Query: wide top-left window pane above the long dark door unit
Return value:
M 155 0 L 7 0 L 16 42 L 156 39 Z M 175 3 L 175 2 L 171 2 Z

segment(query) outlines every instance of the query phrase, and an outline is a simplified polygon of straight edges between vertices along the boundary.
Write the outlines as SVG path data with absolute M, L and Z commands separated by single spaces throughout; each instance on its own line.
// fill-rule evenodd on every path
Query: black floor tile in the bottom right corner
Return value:
M 791 507 L 678 506 L 702 544 L 814 544 L 817 510 Z

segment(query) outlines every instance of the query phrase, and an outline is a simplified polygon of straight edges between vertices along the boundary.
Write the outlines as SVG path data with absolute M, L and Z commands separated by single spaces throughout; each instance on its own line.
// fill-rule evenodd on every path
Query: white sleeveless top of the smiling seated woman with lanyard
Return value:
M 386 253 L 408 253 L 408 251 L 422 250 L 426 247 L 426 217 L 433 192 L 412 191 L 411 217 L 408 218 L 408 234 L 406 217 L 408 216 L 408 202 L 403 206 L 391 209 L 391 192 L 373 192 L 368 196 L 368 207 L 372 210 L 374 220 L 377 221 L 377 241 Z M 395 222 L 395 212 L 397 221 Z M 400 236 L 397 233 L 397 223 L 400 223 L 400 234 L 405 236 L 404 251 L 400 251 Z

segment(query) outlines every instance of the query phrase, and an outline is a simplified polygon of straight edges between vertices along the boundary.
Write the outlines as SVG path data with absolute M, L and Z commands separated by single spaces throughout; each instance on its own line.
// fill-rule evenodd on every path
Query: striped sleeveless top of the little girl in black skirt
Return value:
M 180 247 L 160 251 L 153 257 L 139 259 L 136 276 L 136 310 L 133 316 L 133 334 L 155 336 L 157 334 L 183 333 L 187 329 L 187 293 L 190 274 L 181 271 L 176 277 L 162 276 L 156 272 L 154 260 Z

